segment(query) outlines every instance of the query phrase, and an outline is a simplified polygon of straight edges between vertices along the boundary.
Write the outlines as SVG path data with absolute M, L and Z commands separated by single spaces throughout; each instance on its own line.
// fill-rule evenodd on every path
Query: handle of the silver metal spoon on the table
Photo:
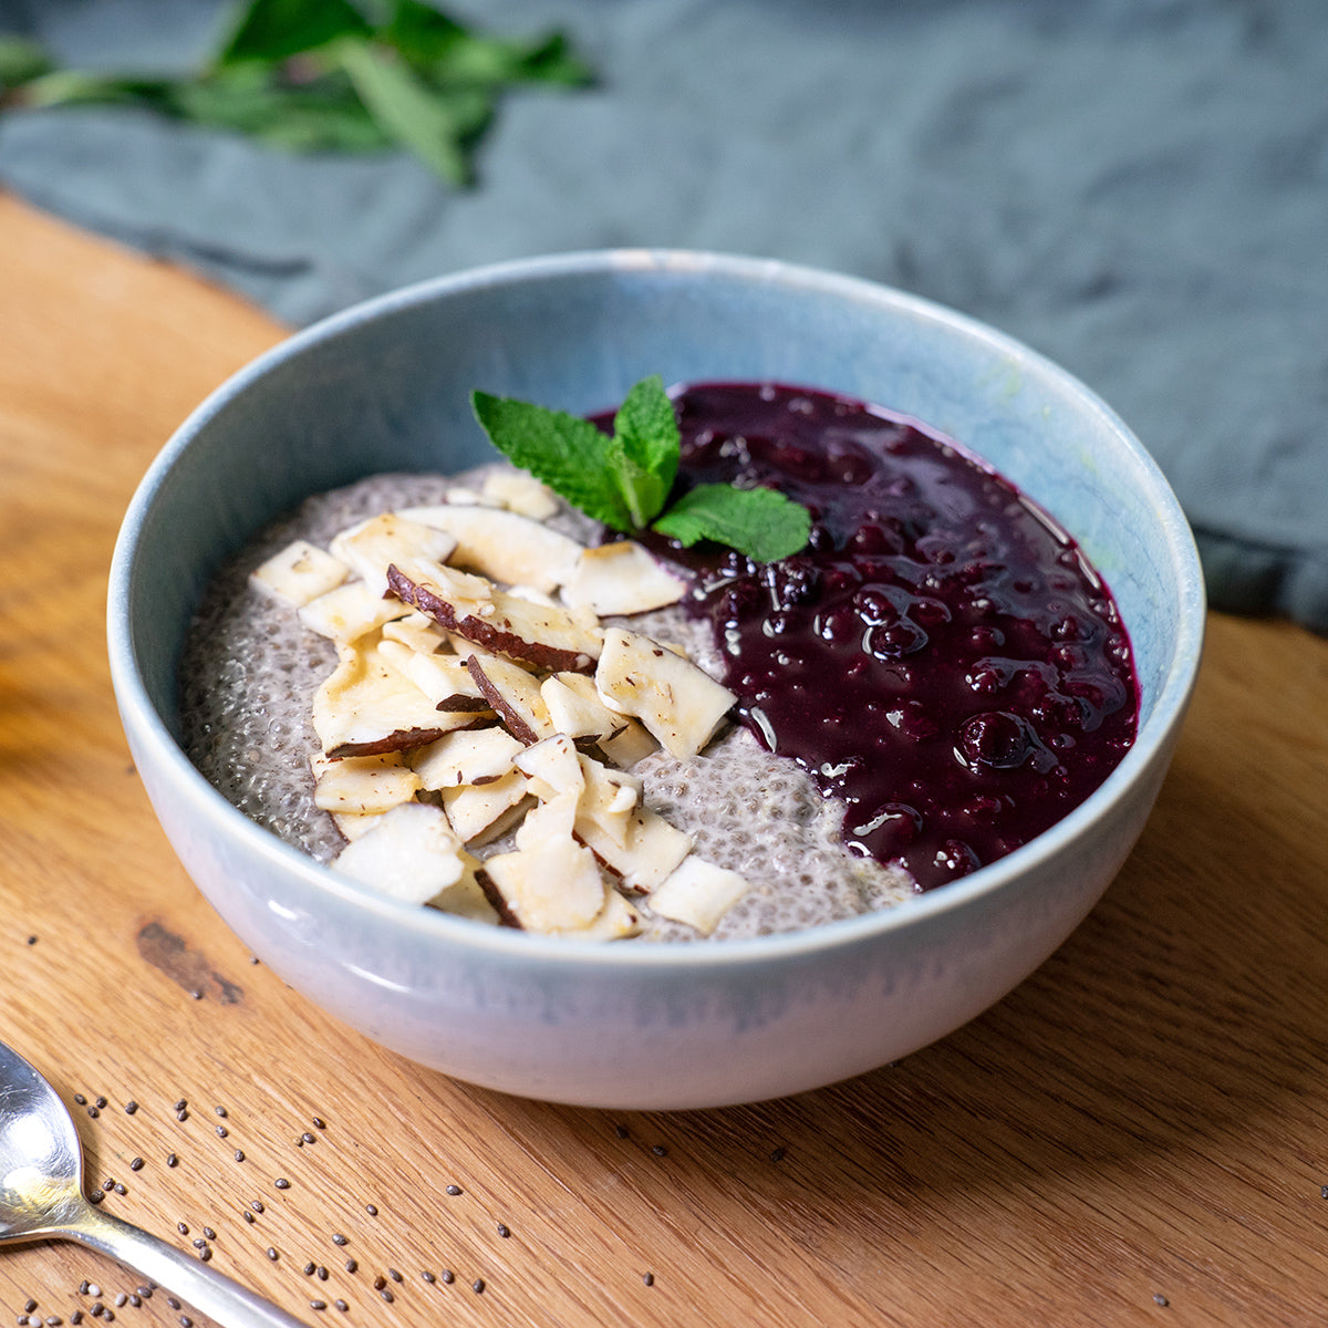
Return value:
M 110 1255 L 226 1328 L 305 1328 L 226 1274 L 90 1203 L 81 1206 L 62 1234 Z

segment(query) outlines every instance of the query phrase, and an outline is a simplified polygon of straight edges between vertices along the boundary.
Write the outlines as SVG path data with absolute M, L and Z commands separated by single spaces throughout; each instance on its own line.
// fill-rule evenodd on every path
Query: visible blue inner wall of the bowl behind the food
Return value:
M 1174 497 L 1074 378 L 991 329 L 887 288 L 679 252 L 527 260 L 385 296 L 232 378 L 163 450 L 126 518 L 112 643 L 178 736 L 175 665 L 216 566 L 305 495 L 382 470 L 491 456 L 474 388 L 586 413 L 648 373 L 766 378 L 914 414 L 991 461 L 1080 540 L 1117 596 L 1141 741 L 1193 679 L 1202 584 Z

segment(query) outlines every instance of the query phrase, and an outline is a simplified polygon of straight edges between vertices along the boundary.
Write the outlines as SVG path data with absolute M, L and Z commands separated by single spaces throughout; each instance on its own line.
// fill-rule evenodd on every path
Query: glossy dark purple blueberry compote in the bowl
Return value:
M 1074 540 L 916 421 L 823 392 L 677 397 L 679 485 L 770 485 L 813 517 L 766 566 L 671 548 L 768 749 L 843 799 L 849 850 L 922 888 L 1027 843 L 1120 762 L 1129 639 Z

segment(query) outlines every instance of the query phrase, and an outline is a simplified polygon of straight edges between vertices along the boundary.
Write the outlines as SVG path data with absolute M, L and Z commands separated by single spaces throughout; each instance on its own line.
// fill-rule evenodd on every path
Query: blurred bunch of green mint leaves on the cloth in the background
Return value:
M 179 77 L 58 69 L 0 33 L 5 109 L 135 105 L 288 151 L 400 147 L 457 186 L 509 88 L 590 81 L 562 33 L 481 33 L 422 0 L 247 0 Z

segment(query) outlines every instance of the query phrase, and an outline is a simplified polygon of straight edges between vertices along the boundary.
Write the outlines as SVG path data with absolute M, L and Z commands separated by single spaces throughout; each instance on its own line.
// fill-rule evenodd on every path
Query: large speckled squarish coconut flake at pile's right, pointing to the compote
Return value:
M 639 718 L 680 761 L 710 741 L 737 700 L 691 660 L 620 627 L 604 632 L 595 687 L 610 709 Z

